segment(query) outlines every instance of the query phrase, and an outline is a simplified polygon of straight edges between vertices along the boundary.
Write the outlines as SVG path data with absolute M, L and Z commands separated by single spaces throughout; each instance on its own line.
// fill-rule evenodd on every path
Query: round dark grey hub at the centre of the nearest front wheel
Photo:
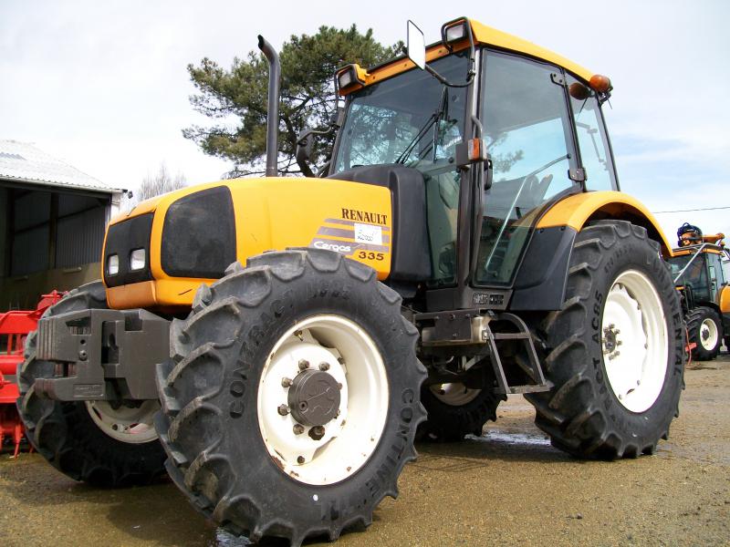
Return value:
M 324 426 L 337 417 L 339 402 L 338 381 L 322 370 L 303 370 L 289 387 L 292 418 L 305 426 Z

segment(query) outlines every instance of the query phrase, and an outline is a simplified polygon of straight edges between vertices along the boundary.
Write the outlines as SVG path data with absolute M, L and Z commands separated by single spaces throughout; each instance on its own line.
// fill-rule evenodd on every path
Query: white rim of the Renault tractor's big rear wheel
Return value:
M 632 412 L 651 408 L 667 371 L 668 334 L 662 301 L 641 272 L 620 274 L 603 309 L 603 364 L 614 395 Z

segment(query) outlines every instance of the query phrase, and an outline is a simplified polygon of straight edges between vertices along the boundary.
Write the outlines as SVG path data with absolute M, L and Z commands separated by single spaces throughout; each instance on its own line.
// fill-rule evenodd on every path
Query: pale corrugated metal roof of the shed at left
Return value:
M 27 142 L 0 139 L 0 180 L 120 193 Z

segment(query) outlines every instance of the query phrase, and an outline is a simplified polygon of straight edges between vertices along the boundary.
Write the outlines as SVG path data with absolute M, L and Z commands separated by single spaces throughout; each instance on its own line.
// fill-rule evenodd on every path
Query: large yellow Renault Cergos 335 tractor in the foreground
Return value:
M 369 525 L 417 433 L 479 435 L 507 394 L 577 457 L 667 438 L 683 315 L 671 247 L 619 191 L 609 78 L 464 17 L 428 47 L 408 28 L 407 56 L 335 75 L 321 177 L 276 177 L 259 36 L 266 178 L 110 222 L 102 282 L 50 309 L 19 370 L 58 470 L 167 470 L 227 530 L 298 545 Z

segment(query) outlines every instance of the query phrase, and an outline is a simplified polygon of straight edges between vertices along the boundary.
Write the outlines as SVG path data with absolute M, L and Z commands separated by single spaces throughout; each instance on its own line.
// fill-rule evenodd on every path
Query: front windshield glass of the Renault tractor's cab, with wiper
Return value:
M 463 81 L 467 52 L 431 66 L 450 81 Z M 429 286 L 454 284 L 456 279 L 461 175 L 454 152 L 464 137 L 465 112 L 465 88 L 447 88 L 427 72 L 413 69 L 353 93 L 339 136 L 334 176 L 388 163 L 422 172 L 432 263 Z

